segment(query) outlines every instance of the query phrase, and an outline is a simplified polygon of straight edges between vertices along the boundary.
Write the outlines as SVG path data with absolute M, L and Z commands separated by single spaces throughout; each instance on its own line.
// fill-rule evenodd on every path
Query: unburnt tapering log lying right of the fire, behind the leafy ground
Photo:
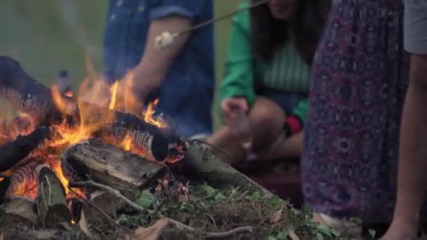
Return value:
M 179 171 L 190 178 L 190 181 L 207 182 L 212 187 L 220 189 L 244 187 L 251 191 L 268 192 L 243 173 L 225 164 L 225 161 L 221 161 L 216 154 L 210 152 L 203 142 L 197 140 L 188 143 L 188 150 Z

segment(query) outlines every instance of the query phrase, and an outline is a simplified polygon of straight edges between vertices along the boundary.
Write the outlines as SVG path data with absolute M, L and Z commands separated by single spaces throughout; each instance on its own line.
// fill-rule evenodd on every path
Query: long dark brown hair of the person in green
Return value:
M 259 0 L 252 0 L 256 1 Z M 294 0 L 294 10 L 288 20 L 274 18 L 268 4 L 252 8 L 252 52 L 256 58 L 271 60 L 277 48 L 289 40 L 291 32 L 298 53 L 311 65 L 330 8 L 331 0 Z

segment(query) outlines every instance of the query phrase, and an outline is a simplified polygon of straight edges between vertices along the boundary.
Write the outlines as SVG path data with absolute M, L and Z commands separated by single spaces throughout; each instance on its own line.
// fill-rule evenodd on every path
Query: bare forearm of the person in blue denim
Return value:
M 155 48 L 155 38 L 162 32 L 173 34 L 190 26 L 191 22 L 188 18 L 178 15 L 171 15 L 151 23 L 143 59 L 134 71 L 134 89 L 136 93 L 149 93 L 162 84 L 169 67 L 171 67 L 188 41 L 189 34 L 180 35 L 173 41 L 173 44 L 161 50 Z

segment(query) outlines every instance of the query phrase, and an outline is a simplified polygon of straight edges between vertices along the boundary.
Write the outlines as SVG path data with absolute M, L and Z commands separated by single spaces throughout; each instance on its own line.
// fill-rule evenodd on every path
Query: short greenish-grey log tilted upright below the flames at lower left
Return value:
M 72 214 L 65 201 L 65 189 L 55 173 L 47 165 L 40 165 L 38 173 L 39 193 L 37 195 L 37 213 L 41 224 L 46 227 L 58 224 L 70 224 Z

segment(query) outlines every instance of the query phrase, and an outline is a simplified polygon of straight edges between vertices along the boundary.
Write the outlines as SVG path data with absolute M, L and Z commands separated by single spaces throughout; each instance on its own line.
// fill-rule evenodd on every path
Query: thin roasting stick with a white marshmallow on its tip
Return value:
M 218 17 L 218 18 L 212 18 L 211 20 L 207 20 L 207 21 L 205 21 L 205 22 L 200 22 L 199 24 L 194 25 L 194 26 L 192 26 L 192 27 L 190 27 L 190 28 L 188 28 L 188 29 L 184 29 L 184 30 L 183 30 L 183 31 L 181 31 L 181 32 L 175 32 L 175 33 L 162 32 L 162 33 L 161 33 L 161 34 L 159 34 L 159 36 L 157 36 L 157 37 L 156 37 L 156 39 L 155 39 L 155 48 L 156 48 L 157 50 L 160 50 L 160 49 L 166 48 L 167 46 L 169 46 L 169 45 L 173 44 L 173 41 L 174 41 L 178 36 L 181 36 L 181 35 L 186 34 L 186 33 L 188 33 L 188 32 L 191 32 L 191 31 L 194 31 L 194 30 L 196 30 L 196 29 L 199 29 L 199 28 L 205 27 L 205 26 L 207 26 L 207 25 L 210 25 L 210 24 L 212 24 L 213 22 L 219 22 L 219 21 L 224 20 L 224 19 L 226 19 L 226 18 L 230 18 L 230 17 L 232 17 L 233 15 L 236 15 L 237 13 L 241 13 L 241 12 L 243 12 L 243 11 L 247 11 L 247 10 L 249 10 L 249 9 L 251 9 L 251 8 L 256 8 L 257 6 L 261 6 L 261 5 L 263 5 L 263 4 L 267 3 L 267 2 L 268 2 L 268 0 L 260 0 L 260 1 L 257 1 L 256 3 L 251 4 L 251 5 L 250 5 L 250 6 L 248 6 L 247 8 L 242 8 L 242 9 L 239 9 L 239 10 L 237 10 L 237 11 L 234 11 L 234 12 L 231 12 L 231 13 L 228 13 L 228 14 L 225 14 L 225 15 L 222 15 L 222 16 L 220 16 L 220 17 Z

